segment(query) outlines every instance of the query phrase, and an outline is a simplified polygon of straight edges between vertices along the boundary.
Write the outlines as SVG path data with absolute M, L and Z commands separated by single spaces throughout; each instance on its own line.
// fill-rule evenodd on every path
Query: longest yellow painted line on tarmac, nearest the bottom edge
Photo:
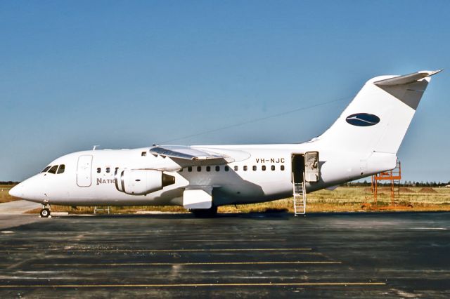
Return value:
M 262 284 L 15 284 L 0 288 L 173 288 L 200 286 L 385 286 L 385 282 L 292 282 Z

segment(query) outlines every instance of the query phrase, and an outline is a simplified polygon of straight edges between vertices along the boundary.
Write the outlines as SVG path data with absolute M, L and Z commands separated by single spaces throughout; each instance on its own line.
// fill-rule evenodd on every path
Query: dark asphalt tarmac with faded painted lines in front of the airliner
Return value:
M 9 217 L 1 298 L 450 297 L 450 213 Z

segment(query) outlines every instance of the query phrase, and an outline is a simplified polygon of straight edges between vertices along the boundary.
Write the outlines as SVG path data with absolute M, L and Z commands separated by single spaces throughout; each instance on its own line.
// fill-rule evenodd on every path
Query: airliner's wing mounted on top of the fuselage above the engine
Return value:
M 211 152 L 210 150 L 196 149 L 193 147 L 184 147 L 180 145 L 155 146 L 150 148 L 150 154 L 169 157 L 179 161 L 181 160 L 184 161 L 185 165 L 186 162 L 195 162 L 192 163 L 192 165 L 209 165 L 226 164 L 235 161 L 235 159 L 226 154 L 219 154 L 217 152 Z

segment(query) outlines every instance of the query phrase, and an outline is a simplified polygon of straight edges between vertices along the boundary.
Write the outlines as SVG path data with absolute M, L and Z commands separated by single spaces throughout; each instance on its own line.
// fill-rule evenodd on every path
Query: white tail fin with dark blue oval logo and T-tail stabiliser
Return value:
M 396 154 L 430 76 L 438 72 L 370 79 L 318 140 L 347 152 Z

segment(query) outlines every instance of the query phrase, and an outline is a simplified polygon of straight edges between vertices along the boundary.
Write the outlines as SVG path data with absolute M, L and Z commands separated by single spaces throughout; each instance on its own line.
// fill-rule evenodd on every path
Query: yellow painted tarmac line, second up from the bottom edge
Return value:
M 207 263 L 72 263 L 51 264 L 51 266 L 204 266 L 204 265 L 318 265 L 342 264 L 337 261 L 287 261 L 287 262 L 207 262 Z M 34 267 L 49 267 L 49 264 L 33 264 Z

